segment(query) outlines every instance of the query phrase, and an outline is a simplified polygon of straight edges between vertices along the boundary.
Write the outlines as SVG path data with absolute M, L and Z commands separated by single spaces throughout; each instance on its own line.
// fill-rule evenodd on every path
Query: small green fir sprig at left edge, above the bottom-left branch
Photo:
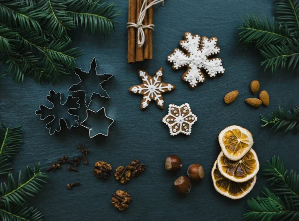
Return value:
M 0 175 L 8 174 L 12 171 L 10 167 L 12 156 L 17 154 L 22 141 L 21 126 L 8 128 L 0 123 Z

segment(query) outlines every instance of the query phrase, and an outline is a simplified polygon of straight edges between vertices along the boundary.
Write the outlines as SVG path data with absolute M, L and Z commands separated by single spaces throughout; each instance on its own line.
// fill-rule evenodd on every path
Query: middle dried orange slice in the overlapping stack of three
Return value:
M 220 173 L 224 177 L 237 183 L 243 183 L 252 179 L 260 169 L 257 154 L 253 149 L 238 161 L 228 159 L 221 151 L 217 164 Z

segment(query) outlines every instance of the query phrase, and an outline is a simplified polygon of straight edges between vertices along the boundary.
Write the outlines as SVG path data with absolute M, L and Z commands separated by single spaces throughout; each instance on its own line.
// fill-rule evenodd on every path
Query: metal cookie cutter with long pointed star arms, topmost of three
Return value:
M 113 74 L 107 74 L 107 73 L 104 73 L 104 74 L 98 74 L 97 73 L 97 61 L 96 61 L 96 58 L 94 57 L 91 64 L 90 64 L 90 69 L 87 72 L 83 71 L 81 68 L 75 68 L 75 74 L 79 77 L 79 82 L 77 84 L 73 84 L 69 89 L 68 91 L 71 91 L 71 92 L 78 92 L 78 91 L 81 91 L 81 92 L 84 92 L 84 95 L 85 95 L 85 104 L 86 104 L 86 107 L 88 108 L 90 103 L 91 103 L 91 100 L 92 100 L 92 96 L 94 94 L 98 94 L 100 95 L 101 97 L 105 97 L 105 98 L 110 98 L 107 91 L 104 90 L 104 88 L 102 87 L 102 83 L 104 83 L 105 81 L 108 81 L 110 78 L 113 77 Z M 94 82 L 96 82 L 98 79 L 96 79 L 96 77 L 100 77 L 100 87 L 97 87 L 96 90 L 97 92 L 95 91 L 89 91 L 90 89 L 92 89 L 90 87 L 91 84 L 94 84 Z M 90 81 L 91 84 L 89 83 L 86 83 L 85 81 Z M 88 85 L 88 86 L 85 86 Z M 82 90 L 81 87 L 84 87 L 85 86 L 85 90 Z M 91 94 L 89 96 L 89 94 Z M 87 97 L 89 97 L 89 101 L 87 101 Z

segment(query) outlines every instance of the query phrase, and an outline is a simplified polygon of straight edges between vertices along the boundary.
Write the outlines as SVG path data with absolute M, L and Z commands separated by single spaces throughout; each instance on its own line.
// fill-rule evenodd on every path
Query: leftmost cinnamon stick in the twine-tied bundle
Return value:
M 129 12 L 128 22 L 136 23 L 136 5 L 137 0 L 129 0 Z M 135 62 L 135 50 L 136 50 L 136 28 L 128 28 L 128 63 Z

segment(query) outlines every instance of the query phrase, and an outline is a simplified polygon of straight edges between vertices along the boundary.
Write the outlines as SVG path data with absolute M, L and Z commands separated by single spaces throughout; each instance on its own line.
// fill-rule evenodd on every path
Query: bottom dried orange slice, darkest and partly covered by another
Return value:
M 216 191 L 225 197 L 238 200 L 245 197 L 254 187 L 257 176 L 244 183 L 233 182 L 219 172 L 217 161 L 215 161 L 212 169 L 212 180 Z

